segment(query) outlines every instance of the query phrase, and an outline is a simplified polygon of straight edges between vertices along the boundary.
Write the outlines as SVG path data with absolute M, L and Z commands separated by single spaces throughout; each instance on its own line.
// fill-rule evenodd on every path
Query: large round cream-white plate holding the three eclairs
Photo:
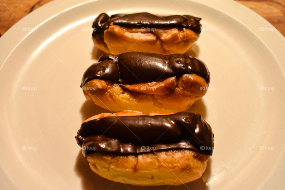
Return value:
M 205 29 L 192 53 L 208 65 L 210 89 L 189 111 L 211 124 L 216 149 L 203 178 L 186 185 L 100 178 L 74 138 L 83 119 L 105 111 L 79 87 L 96 62 L 94 18 L 142 11 L 195 15 Z M 285 39 L 241 4 L 58 0 L 16 23 L 0 44 L 0 189 L 284 189 Z

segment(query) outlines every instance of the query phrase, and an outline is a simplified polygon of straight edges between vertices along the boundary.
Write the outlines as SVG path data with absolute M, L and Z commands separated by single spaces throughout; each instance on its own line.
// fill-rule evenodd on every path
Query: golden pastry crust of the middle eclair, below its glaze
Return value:
M 137 110 L 145 114 L 153 111 L 174 113 L 187 110 L 206 94 L 208 86 L 206 80 L 196 74 L 135 85 L 94 79 L 84 85 L 83 93 L 86 99 L 113 112 Z

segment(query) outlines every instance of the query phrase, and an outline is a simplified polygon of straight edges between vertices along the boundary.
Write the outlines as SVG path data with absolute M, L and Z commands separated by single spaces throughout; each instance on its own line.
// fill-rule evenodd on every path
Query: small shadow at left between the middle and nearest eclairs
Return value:
M 81 106 L 80 113 L 84 121 L 85 119 L 88 119 L 100 113 L 112 113 L 112 112 L 109 110 L 105 110 L 102 107 L 97 106 L 96 104 L 94 104 L 94 102 L 86 100 Z

